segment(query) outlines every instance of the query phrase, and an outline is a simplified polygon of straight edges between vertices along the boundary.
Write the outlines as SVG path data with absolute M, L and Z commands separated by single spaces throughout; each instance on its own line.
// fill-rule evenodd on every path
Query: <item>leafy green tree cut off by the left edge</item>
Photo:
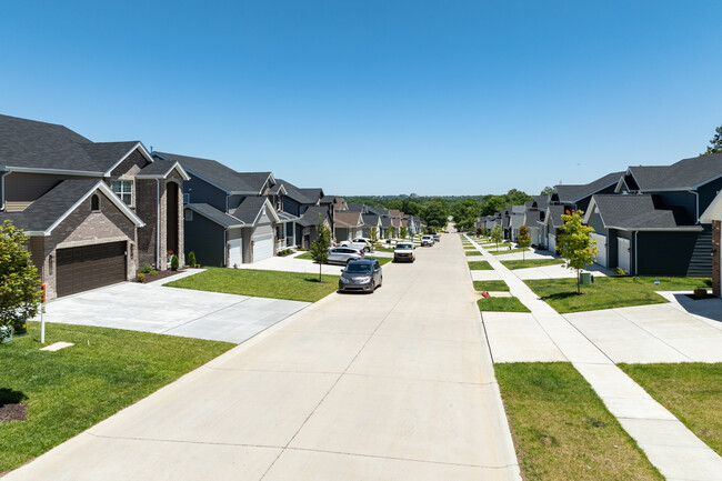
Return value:
M 40 281 L 27 241 L 9 220 L 0 226 L 0 325 L 17 329 L 38 313 Z

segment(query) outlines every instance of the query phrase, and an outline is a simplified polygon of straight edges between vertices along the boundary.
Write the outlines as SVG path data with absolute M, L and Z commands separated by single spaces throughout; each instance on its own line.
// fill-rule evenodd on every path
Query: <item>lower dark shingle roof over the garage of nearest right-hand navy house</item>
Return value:
M 655 196 L 594 196 L 604 227 L 620 230 L 701 230 L 681 208 L 666 208 Z

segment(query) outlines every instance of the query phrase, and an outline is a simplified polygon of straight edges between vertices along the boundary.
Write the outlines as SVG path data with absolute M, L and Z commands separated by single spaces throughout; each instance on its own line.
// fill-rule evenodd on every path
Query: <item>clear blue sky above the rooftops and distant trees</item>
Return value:
M 722 2 L 4 1 L 0 112 L 335 194 L 583 183 L 702 152 Z

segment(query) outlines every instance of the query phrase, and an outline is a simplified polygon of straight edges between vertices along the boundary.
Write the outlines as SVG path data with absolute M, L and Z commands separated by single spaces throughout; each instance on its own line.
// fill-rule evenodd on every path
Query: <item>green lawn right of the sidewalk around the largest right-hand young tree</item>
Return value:
M 654 285 L 654 280 L 660 285 Z M 654 291 L 692 291 L 712 284 L 710 278 L 594 278 L 576 294 L 576 279 L 539 279 L 524 281 L 556 312 L 594 311 L 629 305 L 659 304 L 666 299 Z

